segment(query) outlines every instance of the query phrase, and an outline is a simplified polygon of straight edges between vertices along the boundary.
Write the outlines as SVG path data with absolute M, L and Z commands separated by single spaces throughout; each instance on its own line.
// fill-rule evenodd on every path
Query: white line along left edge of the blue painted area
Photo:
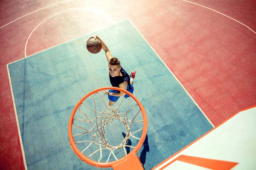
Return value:
M 22 152 L 22 156 L 23 156 L 23 163 L 24 163 L 25 170 L 27 170 L 28 168 L 27 168 L 27 165 L 26 165 L 25 152 L 24 152 L 23 142 L 22 142 L 21 134 L 20 134 L 20 125 L 19 125 L 17 110 L 16 110 L 16 106 L 15 106 L 14 95 L 13 95 L 13 91 L 12 91 L 12 80 L 11 80 L 10 73 L 9 73 L 9 67 L 8 67 L 8 65 L 6 65 L 6 66 L 7 66 L 9 83 L 10 83 L 10 88 L 11 88 L 11 93 L 12 93 L 12 102 L 13 102 L 13 107 L 14 107 L 14 111 L 15 111 L 17 129 L 18 129 L 18 133 L 19 133 L 20 147 L 21 147 L 21 152 Z

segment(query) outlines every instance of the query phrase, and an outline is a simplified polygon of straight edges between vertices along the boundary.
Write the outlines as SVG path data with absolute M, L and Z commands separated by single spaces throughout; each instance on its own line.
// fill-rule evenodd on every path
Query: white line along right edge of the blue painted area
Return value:
M 129 19 L 128 19 L 129 20 Z M 130 23 L 134 26 L 134 24 L 131 22 L 131 20 L 129 20 Z M 140 33 L 140 31 L 134 26 L 134 28 L 138 31 L 138 33 Z M 141 37 L 143 37 L 142 34 L 140 34 Z M 145 39 L 145 37 L 143 37 L 143 39 L 145 40 L 145 42 L 148 43 L 148 41 Z M 150 48 L 154 51 L 154 48 L 151 47 L 151 45 L 148 43 L 148 45 L 150 46 Z M 154 51 L 155 54 L 157 54 L 156 51 Z M 163 59 L 161 59 L 159 57 L 159 55 L 157 54 L 157 57 L 163 62 Z M 172 71 L 170 70 L 170 68 L 166 65 L 165 62 L 163 62 L 163 64 L 166 66 L 166 68 L 171 72 L 171 74 L 173 75 L 173 77 L 175 77 L 175 79 L 177 80 L 177 82 L 180 83 L 180 81 L 177 79 L 177 77 L 172 73 Z M 180 83 L 181 87 L 186 91 L 186 89 L 184 88 L 184 86 Z M 209 123 L 212 125 L 212 127 L 215 127 L 212 122 L 210 121 L 210 119 L 206 116 L 206 114 L 204 113 L 204 111 L 202 111 L 202 109 L 198 106 L 198 104 L 195 102 L 195 100 L 192 98 L 192 96 L 188 93 L 188 91 L 186 91 L 186 93 L 189 95 L 190 99 L 192 99 L 192 101 L 195 103 L 195 105 L 199 108 L 199 110 L 204 114 L 205 118 L 209 121 Z

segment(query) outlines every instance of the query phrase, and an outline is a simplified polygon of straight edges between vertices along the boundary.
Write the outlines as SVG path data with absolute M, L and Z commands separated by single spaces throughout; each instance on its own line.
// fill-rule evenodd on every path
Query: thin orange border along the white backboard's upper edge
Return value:
M 248 109 L 251 109 L 251 108 L 255 108 L 256 105 L 253 105 L 249 108 L 245 108 L 241 111 L 246 111 Z M 239 112 L 241 112 L 239 111 Z M 239 113 L 237 112 L 237 113 Z M 192 144 L 194 144 L 195 142 L 197 142 L 199 139 L 203 138 L 204 136 L 206 136 L 207 134 L 209 134 L 210 132 L 212 132 L 212 130 L 215 130 L 217 127 L 219 127 L 220 125 L 224 124 L 225 122 L 227 122 L 229 119 L 231 119 L 233 116 L 235 116 L 237 113 L 233 114 L 232 116 L 230 116 L 228 119 L 224 120 L 223 122 L 221 122 L 219 125 L 215 126 L 214 128 L 212 128 L 211 130 L 209 130 L 207 133 L 205 133 L 204 135 L 202 135 L 201 137 L 199 137 L 198 139 L 196 139 L 194 142 L 191 142 L 190 144 L 188 144 L 187 146 L 183 147 L 181 150 L 179 150 L 178 152 L 176 152 L 175 154 L 173 154 L 172 156 L 170 156 L 169 158 L 167 158 L 166 160 L 162 161 L 160 164 L 158 164 L 157 166 L 153 167 L 152 170 L 155 170 L 157 167 L 160 167 L 162 164 L 164 164 L 165 162 L 169 161 L 170 159 L 172 159 L 172 157 L 176 156 L 177 154 L 179 154 L 181 151 L 185 150 L 187 147 L 191 146 Z M 171 162 L 169 162 L 168 164 L 171 164 L 172 162 L 174 162 L 175 159 Z M 166 167 L 166 166 L 164 166 Z M 163 168 L 160 168 L 160 170 L 162 170 Z

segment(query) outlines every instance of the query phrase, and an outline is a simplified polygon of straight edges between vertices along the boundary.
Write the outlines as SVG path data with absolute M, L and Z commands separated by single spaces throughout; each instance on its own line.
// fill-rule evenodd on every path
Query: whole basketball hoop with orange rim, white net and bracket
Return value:
M 106 104 L 107 95 L 102 92 L 109 89 L 122 91 L 130 97 L 125 99 L 121 96 L 113 105 L 116 108 L 111 108 Z M 115 121 L 120 125 L 116 125 Z M 116 87 L 98 88 L 85 95 L 71 113 L 68 125 L 70 145 L 82 161 L 92 166 L 143 170 L 136 153 L 145 140 L 147 123 L 143 105 L 129 91 Z M 125 133 L 122 133 L 123 139 L 119 142 L 116 135 L 122 128 Z M 129 141 L 137 145 L 129 145 Z

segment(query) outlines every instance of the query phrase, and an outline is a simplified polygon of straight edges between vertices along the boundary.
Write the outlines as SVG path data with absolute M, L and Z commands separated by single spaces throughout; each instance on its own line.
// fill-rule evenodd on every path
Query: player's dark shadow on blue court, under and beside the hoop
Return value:
M 126 134 L 125 134 L 125 133 L 122 133 L 122 136 L 125 138 Z M 127 142 L 126 145 L 131 146 L 131 144 L 132 144 L 132 143 L 131 143 L 131 140 L 128 139 L 128 142 Z M 145 162 L 146 162 L 146 154 L 147 154 L 147 152 L 149 152 L 148 135 L 146 135 L 142 147 L 143 147 L 143 150 L 142 150 L 141 153 L 140 153 L 140 162 L 141 162 L 141 164 L 143 165 L 143 168 L 144 168 L 144 164 L 145 164 Z M 127 146 L 126 146 L 125 149 L 126 149 L 127 154 L 130 153 L 130 147 L 127 147 Z M 145 169 L 145 168 L 144 168 L 144 169 Z

